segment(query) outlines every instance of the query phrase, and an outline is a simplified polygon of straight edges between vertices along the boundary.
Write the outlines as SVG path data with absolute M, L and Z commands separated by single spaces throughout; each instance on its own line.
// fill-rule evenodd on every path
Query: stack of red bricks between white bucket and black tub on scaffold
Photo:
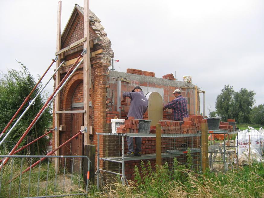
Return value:
M 139 120 L 135 120 L 134 117 L 128 117 L 124 125 L 117 127 L 116 133 L 138 133 L 138 123 Z

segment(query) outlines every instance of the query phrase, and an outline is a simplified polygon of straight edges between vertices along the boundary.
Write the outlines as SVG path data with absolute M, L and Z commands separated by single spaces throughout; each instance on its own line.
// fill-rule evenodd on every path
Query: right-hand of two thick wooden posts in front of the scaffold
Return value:
M 201 134 L 202 171 L 205 172 L 205 169 L 209 168 L 207 123 L 201 123 L 201 129 L 202 129 L 202 134 Z

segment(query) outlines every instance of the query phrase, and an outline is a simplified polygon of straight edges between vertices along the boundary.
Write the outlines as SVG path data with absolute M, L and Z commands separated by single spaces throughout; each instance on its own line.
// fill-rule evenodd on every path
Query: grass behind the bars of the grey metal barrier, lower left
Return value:
M 11 162 L 11 159 L 9 160 Z M 11 182 L 11 188 L 10 188 L 10 175 L 11 175 L 11 170 L 12 170 L 12 177 L 19 175 L 20 174 L 20 169 L 21 169 L 21 160 L 14 160 L 13 167 L 11 166 L 11 163 L 6 164 L 4 166 L 4 169 L 2 171 L 2 184 L 1 184 L 1 194 L 0 197 L 9 197 L 9 190 L 10 190 L 10 197 L 18 197 L 19 193 L 19 179 L 20 177 L 17 177 Z M 24 164 L 22 167 L 22 171 L 27 168 L 29 164 Z M 31 174 L 29 171 L 25 172 L 22 174 L 21 178 L 21 193 L 20 197 L 27 197 L 27 196 L 37 196 L 37 183 L 38 183 L 38 178 L 39 178 L 39 196 L 45 196 L 46 195 L 46 181 L 47 181 L 47 161 L 42 162 L 40 166 L 40 174 L 39 174 L 39 166 L 36 166 L 35 168 L 32 168 Z M 1 174 L 1 171 L 0 171 Z M 66 174 L 69 174 L 66 172 Z M 65 188 L 68 189 L 67 192 L 63 192 L 63 171 L 58 173 L 57 175 L 57 182 L 56 182 L 56 193 L 54 193 L 54 188 L 55 188 L 55 169 L 50 164 L 49 166 L 49 175 L 48 175 L 48 190 L 47 190 L 47 195 L 54 195 L 54 194 L 65 194 L 65 193 L 83 193 L 85 189 L 84 188 L 84 182 L 81 176 L 81 182 L 80 182 L 80 188 L 78 189 L 78 183 L 79 183 L 79 176 L 78 175 L 73 175 L 72 179 L 72 187 L 69 187 L 71 182 L 69 181 L 70 178 L 68 177 L 68 183 L 65 184 Z M 28 193 L 29 189 L 29 178 L 30 178 L 30 190 Z M 72 192 L 69 192 L 69 189 L 72 188 Z M 72 197 L 80 197 L 80 196 L 72 196 Z

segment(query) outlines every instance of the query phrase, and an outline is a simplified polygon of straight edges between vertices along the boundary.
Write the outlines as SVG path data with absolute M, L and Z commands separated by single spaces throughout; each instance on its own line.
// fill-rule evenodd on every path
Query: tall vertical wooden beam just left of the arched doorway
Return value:
M 61 1 L 58 2 L 58 13 L 57 13 L 57 44 L 56 44 L 56 51 L 59 51 L 61 48 Z M 60 65 L 60 55 L 58 56 L 57 62 L 56 62 L 56 69 Z M 56 80 L 55 80 L 55 86 L 57 87 L 60 83 L 60 69 L 56 73 Z M 56 95 L 55 97 L 55 112 L 60 110 L 60 93 Z M 55 113 L 55 127 L 57 127 L 57 130 L 55 130 L 55 148 L 59 147 L 59 140 L 60 140 L 60 114 Z M 59 155 L 59 150 L 55 152 L 55 155 Z M 59 171 L 59 158 L 55 159 L 55 170 Z

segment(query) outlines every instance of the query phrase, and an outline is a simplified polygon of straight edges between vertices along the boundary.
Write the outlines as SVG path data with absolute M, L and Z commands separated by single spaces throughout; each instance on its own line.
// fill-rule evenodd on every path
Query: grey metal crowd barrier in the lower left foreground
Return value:
M 46 156 L 49 160 L 38 161 L 38 168 L 33 168 L 32 163 L 41 159 L 41 155 L 0 155 L 0 158 L 11 158 L 0 171 L 0 197 L 64 197 L 64 196 L 85 196 L 88 194 L 90 159 L 83 155 L 73 156 Z M 57 173 L 50 163 L 51 158 L 64 160 L 64 167 Z M 67 158 L 70 158 L 71 169 L 67 170 Z M 79 160 L 80 159 L 80 160 Z M 87 167 L 83 167 L 84 160 L 87 160 Z M 3 162 L 2 162 L 3 163 Z M 30 171 L 22 174 L 25 165 L 30 164 Z M 79 168 L 74 171 L 74 166 Z M 87 178 L 83 178 L 82 167 L 87 168 Z M 14 179 L 14 175 L 19 177 Z

